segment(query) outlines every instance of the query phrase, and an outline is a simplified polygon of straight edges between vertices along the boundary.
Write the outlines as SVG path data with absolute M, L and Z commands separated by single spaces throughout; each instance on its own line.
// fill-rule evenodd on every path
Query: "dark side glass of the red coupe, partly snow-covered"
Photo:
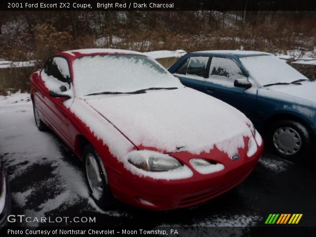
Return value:
M 69 72 L 68 62 L 65 58 L 62 58 L 62 57 L 52 58 L 45 65 L 44 72 L 47 74 L 47 76 L 52 76 L 62 82 L 70 83 L 70 72 Z

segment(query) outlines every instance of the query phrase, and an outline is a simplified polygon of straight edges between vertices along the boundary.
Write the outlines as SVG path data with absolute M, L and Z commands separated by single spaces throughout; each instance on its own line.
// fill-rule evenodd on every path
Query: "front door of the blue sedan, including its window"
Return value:
M 236 61 L 228 57 L 213 56 L 204 83 L 206 93 L 234 106 L 249 118 L 256 118 L 255 85 L 249 89 L 236 87 L 236 79 L 247 79 Z

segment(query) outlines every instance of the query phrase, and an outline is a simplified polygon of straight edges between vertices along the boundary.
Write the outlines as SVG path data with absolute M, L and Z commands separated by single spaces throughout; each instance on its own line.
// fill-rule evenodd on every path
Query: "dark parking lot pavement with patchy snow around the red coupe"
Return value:
M 8 172 L 12 214 L 91 216 L 97 226 L 178 226 L 190 233 L 205 226 L 263 226 L 269 213 L 303 213 L 300 224 L 316 226 L 315 162 L 296 165 L 267 153 L 242 184 L 198 206 L 150 212 L 118 203 L 102 211 L 88 196 L 79 159 L 53 132 L 36 128 L 26 93 L 0 96 L 0 157 Z

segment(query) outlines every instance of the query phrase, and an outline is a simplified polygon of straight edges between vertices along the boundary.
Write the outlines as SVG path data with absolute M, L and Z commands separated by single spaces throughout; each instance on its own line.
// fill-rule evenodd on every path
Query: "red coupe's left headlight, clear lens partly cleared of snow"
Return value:
M 146 171 L 168 171 L 182 167 L 177 159 L 153 151 L 133 151 L 127 159 L 137 168 Z

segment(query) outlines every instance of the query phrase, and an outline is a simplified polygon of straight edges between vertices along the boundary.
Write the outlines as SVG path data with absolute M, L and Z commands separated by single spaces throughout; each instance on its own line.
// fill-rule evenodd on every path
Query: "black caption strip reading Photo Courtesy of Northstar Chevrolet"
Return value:
M 1 237 L 100 237 L 100 236 L 141 236 L 141 237 L 267 237 L 304 236 L 315 237 L 316 227 L 6 227 L 0 230 Z

